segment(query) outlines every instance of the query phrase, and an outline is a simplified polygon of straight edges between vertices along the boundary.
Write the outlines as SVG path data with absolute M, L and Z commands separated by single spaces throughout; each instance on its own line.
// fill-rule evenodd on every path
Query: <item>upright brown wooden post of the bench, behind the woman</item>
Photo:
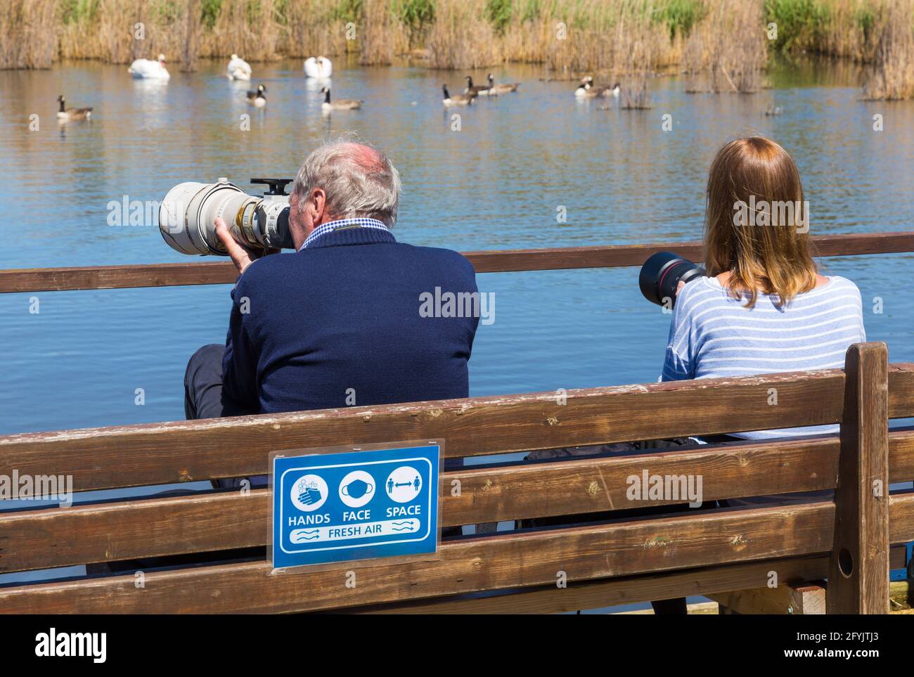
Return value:
M 845 361 L 845 415 L 834 545 L 828 575 L 830 614 L 888 613 L 888 349 L 856 344 Z

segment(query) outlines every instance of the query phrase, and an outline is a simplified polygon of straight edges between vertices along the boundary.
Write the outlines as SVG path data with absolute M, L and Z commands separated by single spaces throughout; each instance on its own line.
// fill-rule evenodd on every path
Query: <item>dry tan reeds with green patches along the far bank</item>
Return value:
M 771 51 L 783 50 L 874 64 L 868 95 L 898 98 L 914 89 L 912 19 L 914 0 L 5 0 L 0 68 L 158 52 L 182 69 L 232 52 L 251 61 L 355 53 L 366 64 L 412 54 L 443 69 L 679 67 L 710 90 L 751 91 Z

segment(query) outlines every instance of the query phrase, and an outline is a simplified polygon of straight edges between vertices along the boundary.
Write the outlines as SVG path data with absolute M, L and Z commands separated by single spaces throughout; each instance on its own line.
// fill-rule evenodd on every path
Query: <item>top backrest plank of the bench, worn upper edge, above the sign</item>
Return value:
M 914 383 L 914 365 L 903 374 Z M 843 393 L 833 369 L 28 433 L 0 438 L 0 472 L 69 474 L 86 491 L 263 474 L 272 450 L 442 438 L 455 457 L 786 428 L 839 421 Z

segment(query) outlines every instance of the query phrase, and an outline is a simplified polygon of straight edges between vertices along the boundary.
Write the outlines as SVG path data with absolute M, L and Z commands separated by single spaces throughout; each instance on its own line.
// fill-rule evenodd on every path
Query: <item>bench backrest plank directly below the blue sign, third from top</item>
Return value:
M 914 492 L 889 502 L 892 543 L 914 540 Z M 554 585 L 673 569 L 723 566 L 809 555 L 832 545 L 834 503 L 753 511 L 715 512 L 663 520 L 601 524 L 535 533 L 504 534 L 441 545 L 437 561 L 355 569 L 346 587 L 343 565 L 331 571 L 271 576 L 262 562 L 149 572 L 145 587 L 133 576 L 0 588 L 5 613 L 292 612 L 406 602 L 483 590 Z M 765 585 L 767 571 L 792 580 L 788 569 L 759 569 L 733 587 Z M 806 578 L 822 577 L 820 570 Z M 653 588 L 652 588 L 653 589 Z M 683 589 L 676 587 L 676 590 Z M 718 588 L 726 589 L 726 588 Z M 639 595 L 676 597 L 662 587 Z M 701 594 L 697 588 L 694 594 Z M 690 593 L 691 594 L 691 593 Z

